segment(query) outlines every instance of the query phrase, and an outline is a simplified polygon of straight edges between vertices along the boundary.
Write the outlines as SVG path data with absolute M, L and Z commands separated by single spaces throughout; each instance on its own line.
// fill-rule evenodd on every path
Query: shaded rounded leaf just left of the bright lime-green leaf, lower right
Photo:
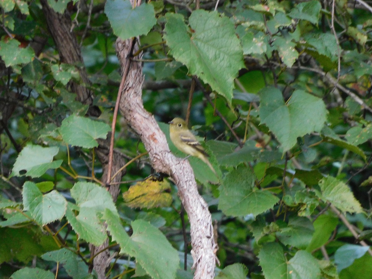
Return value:
M 279 240 L 289 246 L 305 248 L 311 241 L 314 226 L 306 217 L 292 217 L 288 226 L 276 233 Z

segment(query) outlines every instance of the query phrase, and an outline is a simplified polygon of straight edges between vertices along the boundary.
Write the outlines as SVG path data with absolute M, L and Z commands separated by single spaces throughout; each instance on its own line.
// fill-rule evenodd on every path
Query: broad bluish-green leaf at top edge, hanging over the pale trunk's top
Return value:
M 156 24 L 154 6 L 147 3 L 132 8 L 129 0 L 108 0 L 105 13 L 114 34 L 122 40 L 146 35 Z

